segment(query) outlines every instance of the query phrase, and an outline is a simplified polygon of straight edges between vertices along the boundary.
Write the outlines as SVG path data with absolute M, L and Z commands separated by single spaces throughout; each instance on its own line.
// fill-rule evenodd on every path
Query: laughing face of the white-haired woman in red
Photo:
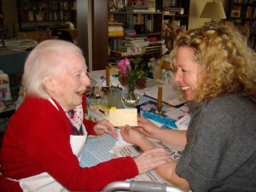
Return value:
M 63 65 L 61 75 L 54 79 L 55 90 L 50 95 L 62 108 L 70 111 L 82 103 L 83 93 L 86 86 L 90 85 L 90 79 L 83 55 L 63 55 Z

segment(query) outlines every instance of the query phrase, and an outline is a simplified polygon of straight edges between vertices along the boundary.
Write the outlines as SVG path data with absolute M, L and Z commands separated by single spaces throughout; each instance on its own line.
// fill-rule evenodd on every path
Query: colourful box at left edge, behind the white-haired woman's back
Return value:
M 11 98 L 12 97 L 9 89 L 9 76 L 0 70 L 0 100 L 7 101 Z

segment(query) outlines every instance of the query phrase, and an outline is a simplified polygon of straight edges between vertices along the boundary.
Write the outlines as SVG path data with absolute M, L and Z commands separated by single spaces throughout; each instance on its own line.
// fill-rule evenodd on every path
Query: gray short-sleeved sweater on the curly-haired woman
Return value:
M 246 94 L 195 110 L 176 172 L 193 191 L 256 191 L 256 107 Z

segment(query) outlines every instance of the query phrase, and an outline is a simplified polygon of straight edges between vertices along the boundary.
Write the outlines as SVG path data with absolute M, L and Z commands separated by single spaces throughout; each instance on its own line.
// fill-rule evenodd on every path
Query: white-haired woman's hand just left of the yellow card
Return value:
M 103 133 L 108 133 L 112 137 L 118 137 L 117 132 L 114 130 L 113 125 L 109 123 L 107 119 L 103 119 L 102 121 L 98 122 L 94 126 L 94 131 L 96 131 L 97 135 L 102 135 Z

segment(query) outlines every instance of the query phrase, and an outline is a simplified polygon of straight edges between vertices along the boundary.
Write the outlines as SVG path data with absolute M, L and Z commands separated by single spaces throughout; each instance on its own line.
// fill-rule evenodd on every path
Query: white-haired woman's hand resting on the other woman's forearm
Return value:
M 146 150 L 143 154 L 134 158 L 139 174 L 148 172 L 157 166 L 172 162 L 171 156 L 164 148 Z

